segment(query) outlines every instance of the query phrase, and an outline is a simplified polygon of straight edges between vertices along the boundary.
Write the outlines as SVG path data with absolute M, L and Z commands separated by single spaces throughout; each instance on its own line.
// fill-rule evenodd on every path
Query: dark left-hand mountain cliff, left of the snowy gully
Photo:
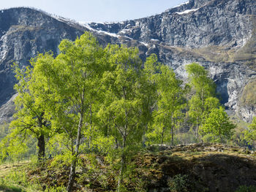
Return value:
M 34 9 L 0 11 L 0 104 L 14 93 L 12 62 L 26 66 L 37 53 L 49 50 L 57 53 L 61 39 L 75 39 L 81 34 L 80 28 L 71 27 Z

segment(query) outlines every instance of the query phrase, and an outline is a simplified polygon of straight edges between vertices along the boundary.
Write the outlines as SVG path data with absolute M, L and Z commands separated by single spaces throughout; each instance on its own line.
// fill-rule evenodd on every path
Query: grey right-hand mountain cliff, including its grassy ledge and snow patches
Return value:
M 255 21 L 255 1 L 190 0 L 148 18 L 88 25 L 144 42 L 146 55 L 157 53 L 183 79 L 186 64 L 202 64 L 217 83 L 222 103 L 250 121 L 255 107 L 239 98 L 256 74 Z

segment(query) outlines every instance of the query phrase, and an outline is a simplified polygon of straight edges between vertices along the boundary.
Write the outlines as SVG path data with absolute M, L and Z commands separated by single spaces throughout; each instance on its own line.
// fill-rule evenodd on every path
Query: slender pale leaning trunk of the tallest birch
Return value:
M 78 124 L 78 136 L 75 142 L 75 154 L 73 154 L 73 160 L 70 167 L 70 173 L 69 173 L 69 183 L 67 184 L 67 191 L 71 192 L 74 182 L 75 182 L 75 168 L 78 161 L 78 153 L 79 153 L 79 146 L 80 146 L 80 139 L 81 139 L 81 131 L 83 126 L 83 112 L 79 113 L 79 124 Z

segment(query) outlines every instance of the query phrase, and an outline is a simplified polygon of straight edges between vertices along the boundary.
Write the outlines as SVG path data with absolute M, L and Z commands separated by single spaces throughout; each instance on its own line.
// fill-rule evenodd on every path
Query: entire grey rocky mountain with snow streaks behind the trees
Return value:
M 184 81 L 192 62 L 209 70 L 222 104 L 246 121 L 256 115 L 256 1 L 189 0 L 159 15 L 120 23 L 78 23 L 41 10 L 0 11 L 0 122 L 13 113 L 12 62 L 29 64 L 37 53 L 58 53 L 61 39 L 91 31 L 102 45 L 136 46 L 144 60 L 156 53 Z

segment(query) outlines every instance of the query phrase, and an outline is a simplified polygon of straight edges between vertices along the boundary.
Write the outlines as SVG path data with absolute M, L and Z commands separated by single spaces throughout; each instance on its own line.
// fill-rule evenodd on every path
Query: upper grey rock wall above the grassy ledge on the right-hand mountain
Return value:
M 255 13 L 255 2 L 250 0 L 193 0 L 149 18 L 90 26 L 142 42 L 155 39 L 178 47 L 241 47 L 251 37 Z

